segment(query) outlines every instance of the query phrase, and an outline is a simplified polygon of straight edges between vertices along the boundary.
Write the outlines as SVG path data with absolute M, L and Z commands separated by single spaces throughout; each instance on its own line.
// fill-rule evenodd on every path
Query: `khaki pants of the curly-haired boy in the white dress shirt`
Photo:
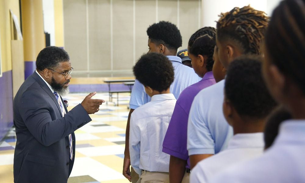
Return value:
M 165 172 L 150 172 L 142 170 L 141 180 L 138 183 L 169 183 L 170 178 L 168 173 Z

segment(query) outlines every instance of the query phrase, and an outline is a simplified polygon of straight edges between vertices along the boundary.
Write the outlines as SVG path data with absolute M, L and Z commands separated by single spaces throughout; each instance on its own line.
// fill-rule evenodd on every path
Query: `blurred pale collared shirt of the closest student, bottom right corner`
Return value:
M 234 165 L 213 183 L 304 183 L 305 120 L 287 120 L 274 144 L 260 157 Z

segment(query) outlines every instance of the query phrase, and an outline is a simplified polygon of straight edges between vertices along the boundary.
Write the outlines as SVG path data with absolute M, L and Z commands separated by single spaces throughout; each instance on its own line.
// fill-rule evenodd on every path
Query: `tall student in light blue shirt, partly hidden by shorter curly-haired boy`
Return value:
M 174 94 L 175 98 L 178 99 L 182 90 L 191 84 L 200 81 L 200 77 L 196 75 L 194 70 L 181 63 L 181 58 L 177 56 L 177 50 L 182 45 L 182 37 L 179 29 L 173 23 L 167 21 L 160 21 L 154 23 L 147 28 L 148 35 L 148 52 L 161 53 L 171 61 L 174 67 L 174 82 L 170 85 L 170 92 Z M 130 115 L 139 106 L 149 102 L 150 96 L 145 93 L 144 86 L 138 81 L 131 91 L 131 97 L 129 102 L 129 115 L 126 125 L 126 140 L 125 140 L 125 151 L 124 151 L 124 164 L 123 164 L 123 175 L 131 181 L 132 176 L 130 175 L 130 159 L 129 159 L 129 121 Z M 132 170 L 131 170 L 132 171 Z M 134 182 L 134 180 L 132 181 Z

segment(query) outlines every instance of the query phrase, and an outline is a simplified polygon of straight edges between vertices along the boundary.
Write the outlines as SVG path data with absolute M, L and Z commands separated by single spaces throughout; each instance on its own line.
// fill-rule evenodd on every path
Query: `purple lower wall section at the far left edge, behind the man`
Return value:
M 13 85 L 12 71 L 0 77 L 0 141 L 13 126 Z

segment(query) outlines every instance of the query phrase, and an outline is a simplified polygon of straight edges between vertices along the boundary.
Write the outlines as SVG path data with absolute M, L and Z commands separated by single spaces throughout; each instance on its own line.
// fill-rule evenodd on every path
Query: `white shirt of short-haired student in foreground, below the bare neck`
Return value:
M 263 151 L 263 133 L 236 134 L 229 141 L 228 149 L 197 163 L 191 171 L 190 182 L 210 182 L 221 170 L 260 156 Z

